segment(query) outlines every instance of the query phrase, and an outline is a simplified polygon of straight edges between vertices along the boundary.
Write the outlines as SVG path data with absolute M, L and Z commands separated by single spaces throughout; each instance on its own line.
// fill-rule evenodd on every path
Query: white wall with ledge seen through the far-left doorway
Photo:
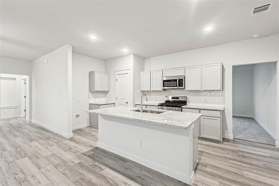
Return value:
M 21 77 L 21 75 L 1 74 L 1 107 L 17 106 L 17 108 L 2 108 L 1 119 L 21 117 L 23 82 Z

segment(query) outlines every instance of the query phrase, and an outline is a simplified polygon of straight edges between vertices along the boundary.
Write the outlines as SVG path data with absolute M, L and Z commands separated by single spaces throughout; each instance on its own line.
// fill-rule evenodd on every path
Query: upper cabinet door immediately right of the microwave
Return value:
M 185 67 L 185 90 L 201 90 L 201 66 Z

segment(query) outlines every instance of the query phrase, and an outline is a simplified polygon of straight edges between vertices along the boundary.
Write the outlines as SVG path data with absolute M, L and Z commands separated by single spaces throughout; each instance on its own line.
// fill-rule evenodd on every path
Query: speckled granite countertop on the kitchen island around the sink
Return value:
M 153 123 L 163 126 L 171 126 L 175 128 L 187 129 L 196 121 L 202 114 L 187 113 L 177 111 L 165 111 L 160 114 L 155 113 L 140 113 L 133 110 L 138 110 L 134 107 L 111 107 L 101 108 L 95 110 L 87 110 L 88 113 L 100 114 L 104 116 L 118 117 L 130 119 L 139 122 Z M 144 110 L 158 110 L 158 109 L 144 109 Z M 158 110 L 163 111 L 163 110 Z

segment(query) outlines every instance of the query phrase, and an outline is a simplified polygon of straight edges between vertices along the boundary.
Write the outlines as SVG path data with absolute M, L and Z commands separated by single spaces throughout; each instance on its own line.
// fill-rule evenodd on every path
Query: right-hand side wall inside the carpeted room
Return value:
M 276 139 L 276 63 L 255 64 L 254 118 Z

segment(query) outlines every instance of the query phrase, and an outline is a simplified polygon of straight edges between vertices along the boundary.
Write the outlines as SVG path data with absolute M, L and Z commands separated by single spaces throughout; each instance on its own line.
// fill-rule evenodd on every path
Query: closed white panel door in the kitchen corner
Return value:
M 116 106 L 130 107 L 130 73 L 117 74 Z

